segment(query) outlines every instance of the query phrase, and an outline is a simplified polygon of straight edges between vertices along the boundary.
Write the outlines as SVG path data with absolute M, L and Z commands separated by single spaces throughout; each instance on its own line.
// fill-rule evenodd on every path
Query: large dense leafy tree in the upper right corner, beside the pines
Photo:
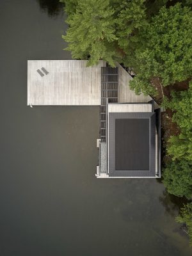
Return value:
M 150 79 L 159 77 L 164 86 L 175 81 L 185 81 L 192 75 L 192 13 L 180 3 L 166 8 L 152 18 L 143 35 L 147 47 L 136 50 L 139 81 L 131 82 L 137 92 L 150 92 Z M 141 84 L 141 85 L 142 85 Z

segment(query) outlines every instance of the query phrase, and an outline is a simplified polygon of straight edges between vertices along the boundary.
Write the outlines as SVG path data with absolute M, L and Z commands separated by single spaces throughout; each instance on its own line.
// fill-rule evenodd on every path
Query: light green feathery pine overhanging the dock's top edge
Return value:
M 88 65 L 99 60 L 115 66 L 115 19 L 109 1 L 79 0 L 76 13 L 67 19 L 69 28 L 63 39 L 68 42 L 67 50 L 76 59 L 87 59 Z

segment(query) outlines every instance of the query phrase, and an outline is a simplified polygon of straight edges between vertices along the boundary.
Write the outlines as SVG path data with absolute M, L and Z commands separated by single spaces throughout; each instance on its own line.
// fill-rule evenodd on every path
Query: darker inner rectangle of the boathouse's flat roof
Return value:
M 149 170 L 148 118 L 115 119 L 115 170 Z

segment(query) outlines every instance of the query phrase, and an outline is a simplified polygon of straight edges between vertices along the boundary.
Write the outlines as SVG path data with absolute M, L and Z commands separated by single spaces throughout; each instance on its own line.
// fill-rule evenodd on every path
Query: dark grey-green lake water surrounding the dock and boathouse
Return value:
M 188 256 L 154 179 L 96 179 L 99 107 L 27 106 L 27 60 L 70 60 L 56 1 L 0 3 L 1 256 Z

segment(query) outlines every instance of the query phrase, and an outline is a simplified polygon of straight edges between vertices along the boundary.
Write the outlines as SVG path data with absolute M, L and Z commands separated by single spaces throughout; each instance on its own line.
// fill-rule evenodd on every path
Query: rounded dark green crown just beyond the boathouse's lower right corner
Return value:
M 163 170 L 163 183 L 175 196 L 192 196 L 191 161 L 172 161 Z

